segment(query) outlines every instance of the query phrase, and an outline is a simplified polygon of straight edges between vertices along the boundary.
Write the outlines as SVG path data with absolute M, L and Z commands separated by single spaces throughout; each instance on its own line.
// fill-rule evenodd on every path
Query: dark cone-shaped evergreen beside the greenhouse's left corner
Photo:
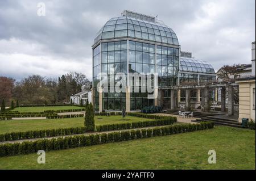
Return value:
M 93 132 L 94 129 L 95 129 L 94 112 L 93 112 L 92 103 L 90 103 L 86 107 L 84 125 L 85 125 L 85 130 L 86 131 L 92 131 Z

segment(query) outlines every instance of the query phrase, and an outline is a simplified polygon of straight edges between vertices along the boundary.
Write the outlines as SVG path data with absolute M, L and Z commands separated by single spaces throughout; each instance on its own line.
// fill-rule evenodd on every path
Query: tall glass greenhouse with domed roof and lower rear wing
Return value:
M 152 16 L 123 11 L 121 17 L 105 23 L 92 48 L 95 111 L 121 111 L 125 107 L 129 112 L 158 104 L 157 98 L 148 98 L 150 92 L 141 91 L 141 84 L 137 84 L 134 78 L 129 79 L 130 73 L 151 75 L 155 81 L 155 73 L 158 73 L 157 85 L 146 85 L 154 89 L 216 79 L 211 65 L 192 58 L 189 53 L 182 53 L 176 33 Z M 108 76 L 109 91 L 97 90 L 102 79 L 100 73 Z M 118 73 L 127 75 L 125 91 L 111 91 L 113 84 L 110 82 L 116 83 L 121 79 Z M 169 91 L 165 90 L 164 94 L 168 99 Z

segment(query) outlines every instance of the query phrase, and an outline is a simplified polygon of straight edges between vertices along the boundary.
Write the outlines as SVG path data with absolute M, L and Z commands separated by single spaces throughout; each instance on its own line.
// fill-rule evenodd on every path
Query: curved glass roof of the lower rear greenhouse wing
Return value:
M 195 58 L 180 57 L 180 71 L 215 74 L 212 65 Z

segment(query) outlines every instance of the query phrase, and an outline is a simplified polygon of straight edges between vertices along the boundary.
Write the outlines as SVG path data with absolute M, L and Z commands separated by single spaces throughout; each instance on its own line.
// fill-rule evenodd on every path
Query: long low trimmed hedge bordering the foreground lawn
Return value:
M 22 143 L 0 145 L 0 157 L 30 154 L 38 150 L 63 150 L 77 148 L 81 146 L 91 146 L 105 144 L 108 142 L 118 142 L 134 140 L 152 136 L 163 136 L 177 133 L 193 132 L 214 127 L 212 122 L 202 122 L 200 124 L 178 124 L 160 128 L 147 128 L 122 132 L 111 132 L 101 134 L 80 135 L 72 137 L 59 137 L 38 141 L 25 141 Z

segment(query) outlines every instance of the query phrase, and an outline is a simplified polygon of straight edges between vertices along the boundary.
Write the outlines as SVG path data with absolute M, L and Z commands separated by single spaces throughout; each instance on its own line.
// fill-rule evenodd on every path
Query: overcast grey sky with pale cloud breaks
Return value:
M 46 16 L 38 16 L 38 3 Z M 208 61 L 250 64 L 255 0 L 0 1 L 0 76 L 58 77 L 69 71 L 92 79 L 96 33 L 123 10 L 156 16 L 171 27 L 181 50 Z

